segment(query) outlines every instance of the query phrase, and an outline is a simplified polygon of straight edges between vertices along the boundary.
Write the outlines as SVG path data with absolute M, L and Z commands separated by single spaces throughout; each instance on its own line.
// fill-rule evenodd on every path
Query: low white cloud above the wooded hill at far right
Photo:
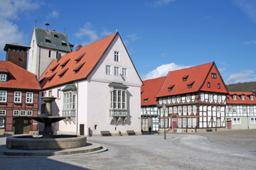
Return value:
M 250 81 L 256 81 L 256 77 L 253 75 L 253 71 L 248 69 L 242 72 L 231 74 L 230 77 L 228 77 L 227 84 L 236 84 Z

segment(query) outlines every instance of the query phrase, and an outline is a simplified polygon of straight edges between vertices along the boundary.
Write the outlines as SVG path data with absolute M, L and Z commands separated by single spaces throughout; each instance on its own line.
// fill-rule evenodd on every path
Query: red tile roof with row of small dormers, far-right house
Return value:
M 236 100 L 233 100 L 233 96 L 236 95 Z M 245 95 L 245 100 L 242 100 L 241 96 Z M 253 96 L 253 100 L 250 99 Z M 230 92 L 227 100 L 228 104 L 256 104 L 255 95 L 252 92 Z

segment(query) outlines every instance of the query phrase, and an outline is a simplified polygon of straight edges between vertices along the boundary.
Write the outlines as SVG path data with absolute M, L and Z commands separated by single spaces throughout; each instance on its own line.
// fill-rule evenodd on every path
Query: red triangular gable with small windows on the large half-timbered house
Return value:
M 210 84 L 210 87 L 208 87 L 208 84 Z M 218 93 L 228 93 L 228 90 L 226 89 L 225 83 L 218 72 L 218 68 L 215 64 L 210 69 L 210 72 L 208 72 L 208 75 L 206 77 L 206 80 L 203 82 L 203 86 L 200 89 L 201 91 L 214 91 Z

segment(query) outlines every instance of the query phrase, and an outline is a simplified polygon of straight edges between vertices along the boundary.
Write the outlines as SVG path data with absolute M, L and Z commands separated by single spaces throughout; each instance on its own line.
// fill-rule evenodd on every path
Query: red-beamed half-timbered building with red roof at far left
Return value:
M 0 134 L 37 132 L 38 96 L 35 74 L 12 62 L 0 61 Z

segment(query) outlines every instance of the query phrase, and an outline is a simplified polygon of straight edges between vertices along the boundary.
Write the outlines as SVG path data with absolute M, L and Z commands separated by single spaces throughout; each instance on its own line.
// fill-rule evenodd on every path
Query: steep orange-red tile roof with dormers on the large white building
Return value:
M 114 33 L 102 40 L 81 47 L 80 50 L 70 52 L 61 57 L 58 62 L 57 60 L 53 60 L 39 79 L 42 88 L 47 89 L 79 79 L 86 79 L 107 50 L 107 47 L 109 47 L 110 42 L 112 42 L 117 35 L 119 35 L 119 33 Z M 66 70 L 65 74 L 58 76 L 61 75 L 66 68 L 69 69 Z M 50 80 L 48 78 L 50 78 Z

